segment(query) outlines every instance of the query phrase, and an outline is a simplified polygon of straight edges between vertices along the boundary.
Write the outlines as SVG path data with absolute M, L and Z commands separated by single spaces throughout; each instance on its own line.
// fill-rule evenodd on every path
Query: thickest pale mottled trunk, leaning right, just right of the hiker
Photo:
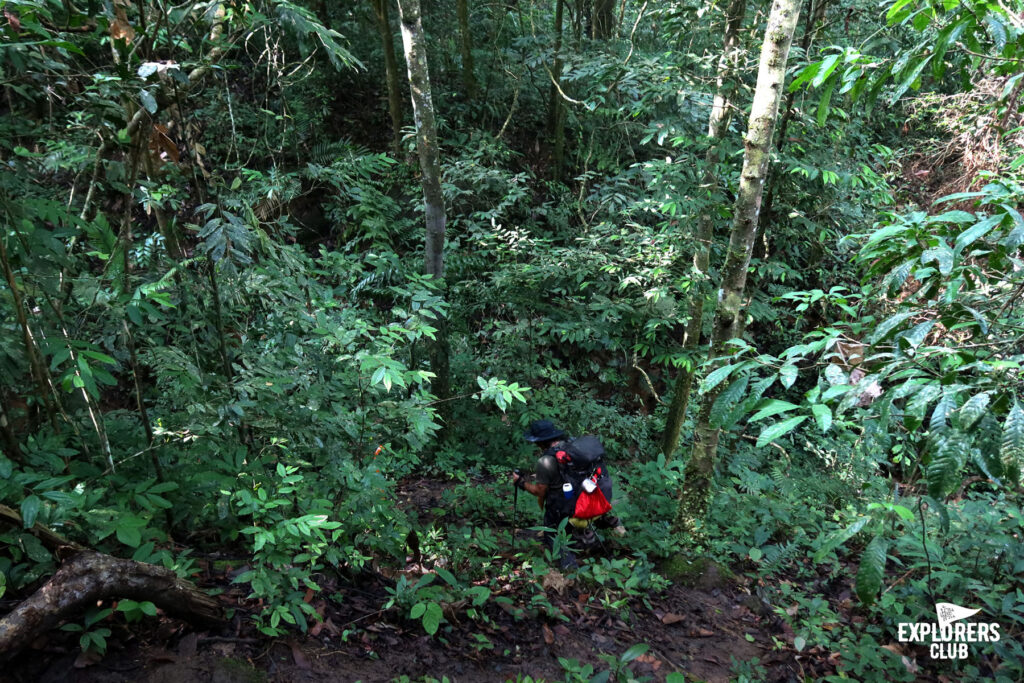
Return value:
M 800 0 L 774 0 L 765 29 L 758 83 L 743 140 L 743 169 L 739 175 L 729 250 L 722 269 L 722 285 L 718 291 L 712 324 L 712 343 L 708 354 L 712 370 L 722 365 L 722 360 L 717 358 L 727 352 L 725 343 L 741 334 L 746 269 L 751 262 L 764 181 L 768 173 L 772 134 L 775 132 L 778 105 L 782 99 L 785 65 L 799 16 Z M 719 385 L 719 388 L 701 397 L 693 450 L 679 495 L 676 523 L 680 530 L 693 540 L 702 537 L 703 520 L 711 502 L 712 475 L 719 438 L 719 429 L 711 422 L 711 410 L 723 388 Z

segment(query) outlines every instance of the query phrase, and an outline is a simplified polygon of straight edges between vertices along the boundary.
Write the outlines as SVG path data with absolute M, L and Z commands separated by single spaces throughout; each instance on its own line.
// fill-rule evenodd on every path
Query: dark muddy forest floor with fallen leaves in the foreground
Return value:
M 437 481 L 402 482 L 399 500 L 407 509 L 429 515 L 440 504 L 443 488 Z M 537 543 L 535 538 L 535 532 L 520 530 L 517 543 Z M 486 623 L 446 614 L 451 629 L 434 638 L 418 622 L 402 620 L 396 609 L 381 609 L 393 583 L 379 572 L 362 572 L 344 584 L 322 584 L 321 596 L 331 598 L 311 596 L 310 604 L 324 618 L 308 633 L 262 636 L 248 617 L 258 605 L 247 601 L 242 586 L 230 584 L 242 568 L 220 561 L 207 564 L 197 578 L 203 588 L 221 591 L 225 608 L 237 610 L 219 632 L 196 632 L 166 617 L 112 625 L 109 650 L 99 658 L 79 650 L 78 634 L 53 631 L 35 644 L 38 649 L 24 652 L 13 668 L 0 671 L 0 681 L 371 683 L 402 676 L 413 681 L 447 677 L 453 683 L 514 681 L 517 676 L 560 681 L 566 678 L 560 657 L 603 671 L 608 665 L 600 655 L 617 657 L 638 643 L 649 649 L 629 667 L 654 681 L 664 681 L 672 672 L 685 673 L 686 680 L 734 680 L 734 660 L 754 657 L 764 667 L 758 678 L 769 681 L 799 680 L 831 669 L 824 658 L 776 649 L 773 636 L 792 642 L 792 632 L 785 633 L 787 627 L 764 609 L 742 580 L 727 578 L 728 571 L 714 564 L 692 577 L 690 585 L 675 583 L 646 600 L 633 600 L 628 613 L 595 608 L 586 588 L 551 571 L 544 580 L 547 599 L 568 621 L 543 614 L 517 620 L 507 605 L 488 601 Z

